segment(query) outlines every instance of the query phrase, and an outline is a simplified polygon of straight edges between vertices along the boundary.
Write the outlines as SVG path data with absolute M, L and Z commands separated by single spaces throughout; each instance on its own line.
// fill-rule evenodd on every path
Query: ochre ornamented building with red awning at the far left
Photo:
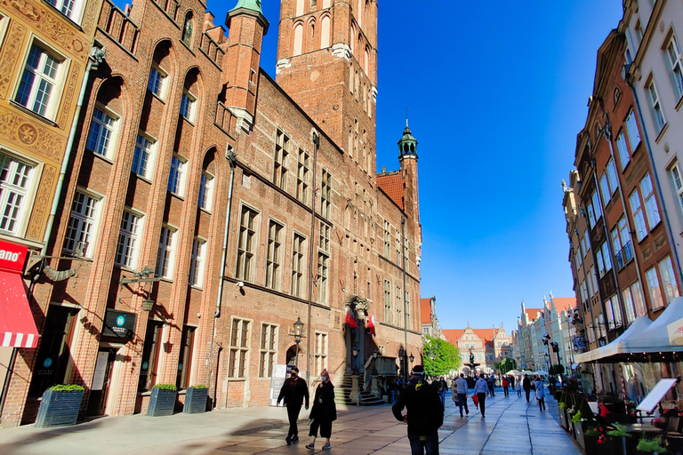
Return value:
M 27 384 L 8 394 L 38 343 L 44 312 L 29 307 L 21 272 L 51 235 L 84 81 L 101 55 L 92 50 L 100 0 L 0 4 L 0 413 L 19 422 Z

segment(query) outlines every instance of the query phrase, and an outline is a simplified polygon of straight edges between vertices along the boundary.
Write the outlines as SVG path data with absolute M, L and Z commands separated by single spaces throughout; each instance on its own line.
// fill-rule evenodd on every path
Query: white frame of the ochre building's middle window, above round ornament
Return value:
M 31 51 L 33 50 L 34 46 L 43 52 L 37 63 L 38 68 L 41 66 L 44 68 L 48 56 L 58 63 L 53 76 L 45 74 L 43 70 L 38 71 L 37 68 L 28 67 L 28 58 L 31 55 Z M 20 106 L 23 106 L 24 108 L 27 108 L 31 112 L 35 113 L 37 116 L 42 116 L 53 121 L 56 118 L 60 107 L 61 96 L 68 74 L 69 62 L 70 60 L 68 60 L 66 56 L 55 51 L 50 45 L 38 40 L 37 37 L 34 36 L 28 42 L 27 51 L 21 65 L 22 69 L 20 76 L 17 78 L 17 84 L 12 95 L 12 100 Z M 27 100 L 21 102 L 19 100 L 20 88 L 22 81 L 24 80 L 24 76 L 27 73 L 33 75 L 34 78 L 33 82 L 30 84 Z M 40 91 L 40 84 L 36 83 L 36 77 L 38 83 L 42 81 L 45 84 L 51 84 L 50 93 L 47 95 L 47 102 L 44 103 L 44 110 L 42 112 L 40 108 L 36 110 L 36 100 L 38 98 L 38 92 Z

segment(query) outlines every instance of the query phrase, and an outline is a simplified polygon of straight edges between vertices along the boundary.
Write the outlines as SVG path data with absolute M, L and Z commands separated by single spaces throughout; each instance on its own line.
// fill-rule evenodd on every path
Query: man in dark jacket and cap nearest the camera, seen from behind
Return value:
M 406 415 L 402 414 L 406 408 Z M 422 365 L 413 367 L 406 390 L 391 407 L 394 417 L 408 424 L 413 455 L 438 455 L 438 428 L 444 423 L 444 405 L 435 387 L 424 379 Z

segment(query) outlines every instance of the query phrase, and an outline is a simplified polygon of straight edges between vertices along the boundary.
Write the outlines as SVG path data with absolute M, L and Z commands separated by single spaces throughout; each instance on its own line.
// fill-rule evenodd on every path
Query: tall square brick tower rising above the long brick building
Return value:
M 282 0 L 276 80 L 374 179 L 377 0 Z

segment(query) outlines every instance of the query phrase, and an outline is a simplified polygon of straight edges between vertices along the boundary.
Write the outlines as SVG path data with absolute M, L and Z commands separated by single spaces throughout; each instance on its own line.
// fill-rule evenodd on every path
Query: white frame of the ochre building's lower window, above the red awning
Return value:
M 9 163 L 7 160 L 9 160 Z M 5 165 L 10 170 L 7 176 L 9 177 L 12 174 L 13 181 L 10 183 L 0 180 L 0 190 L 2 190 L 0 191 L 0 207 L 3 207 L 0 212 L 0 233 L 22 235 L 28 226 L 31 214 L 30 209 L 33 206 L 36 187 L 40 181 L 40 172 L 38 172 L 38 164 L 36 162 L 0 148 L 0 177 L 4 173 Z M 26 169 L 26 172 L 22 171 L 22 169 Z M 26 181 L 17 185 L 17 178 Z M 17 197 L 20 198 L 19 204 L 16 203 Z M 12 207 L 14 211 L 10 214 L 8 210 Z M 7 222 L 12 224 L 11 228 L 5 228 L 5 219 L 8 216 L 12 219 L 7 220 Z

